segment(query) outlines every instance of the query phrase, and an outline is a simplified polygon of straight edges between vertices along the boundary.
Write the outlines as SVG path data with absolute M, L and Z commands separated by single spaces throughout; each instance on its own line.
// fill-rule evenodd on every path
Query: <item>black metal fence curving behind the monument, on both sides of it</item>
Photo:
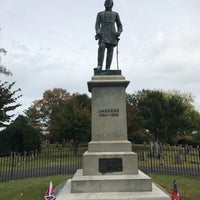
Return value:
M 0 182 L 51 175 L 74 174 L 82 168 L 86 146 L 45 147 L 23 155 L 11 152 L 0 155 Z M 200 176 L 200 149 L 191 146 L 169 146 L 152 143 L 133 145 L 138 154 L 139 169 L 149 174 Z

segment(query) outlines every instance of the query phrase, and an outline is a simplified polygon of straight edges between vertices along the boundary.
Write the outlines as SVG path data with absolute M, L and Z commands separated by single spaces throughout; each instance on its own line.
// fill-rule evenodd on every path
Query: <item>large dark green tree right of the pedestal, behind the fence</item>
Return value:
M 132 98 L 139 115 L 145 120 L 144 128 L 154 135 L 155 140 L 174 142 L 177 135 L 199 130 L 199 113 L 192 105 L 190 94 L 142 90 L 132 95 Z

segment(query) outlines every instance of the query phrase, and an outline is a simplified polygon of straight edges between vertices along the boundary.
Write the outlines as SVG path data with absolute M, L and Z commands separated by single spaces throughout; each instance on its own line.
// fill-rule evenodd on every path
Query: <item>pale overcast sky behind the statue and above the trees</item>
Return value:
M 104 0 L 0 0 L 0 48 L 23 97 L 21 113 L 45 90 L 88 92 L 96 67 L 96 14 Z M 119 65 L 130 85 L 180 90 L 200 111 L 200 0 L 114 0 L 123 33 Z M 111 69 L 117 69 L 114 55 Z

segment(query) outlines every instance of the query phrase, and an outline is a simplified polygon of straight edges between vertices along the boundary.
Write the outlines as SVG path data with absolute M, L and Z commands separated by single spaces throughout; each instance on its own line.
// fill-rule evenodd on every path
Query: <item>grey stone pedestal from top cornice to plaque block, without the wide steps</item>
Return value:
M 92 141 L 83 155 L 83 175 L 138 174 L 137 154 L 127 140 L 125 89 L 129 81 L 121 75 L 96 75 L 88 82 L 92 93 Z M 110 165 L 101 171 L 102 165 Z M 120 165 L 115 169 L 113 165 Z M 106 168 L 106 166 L 105 166 Z

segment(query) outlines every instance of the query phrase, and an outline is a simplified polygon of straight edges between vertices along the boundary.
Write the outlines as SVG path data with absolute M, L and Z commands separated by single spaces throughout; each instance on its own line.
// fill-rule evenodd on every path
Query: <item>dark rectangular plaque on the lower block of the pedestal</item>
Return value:
M 122 158 L 100 158 L 99 172 L 121 172 L 123 170 Z

